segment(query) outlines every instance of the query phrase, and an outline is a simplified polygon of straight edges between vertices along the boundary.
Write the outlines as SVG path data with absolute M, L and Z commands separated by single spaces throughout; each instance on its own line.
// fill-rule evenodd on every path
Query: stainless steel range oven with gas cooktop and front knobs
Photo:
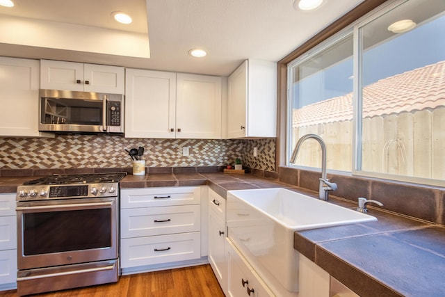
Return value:
M 19 296 L 118 281 L 126 174 L 52 175 L 17 187 Z

